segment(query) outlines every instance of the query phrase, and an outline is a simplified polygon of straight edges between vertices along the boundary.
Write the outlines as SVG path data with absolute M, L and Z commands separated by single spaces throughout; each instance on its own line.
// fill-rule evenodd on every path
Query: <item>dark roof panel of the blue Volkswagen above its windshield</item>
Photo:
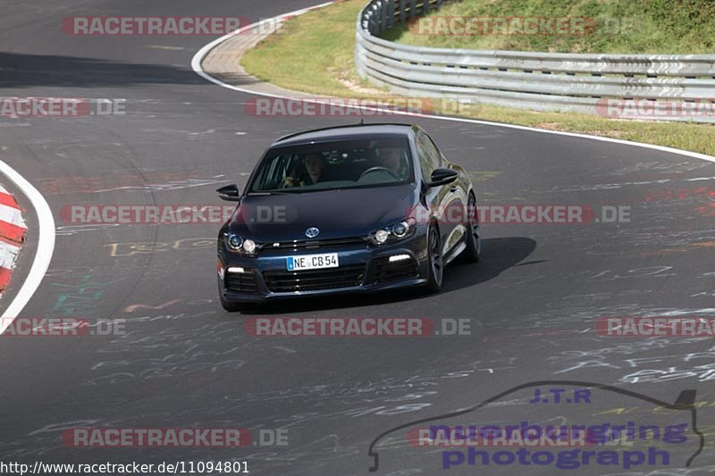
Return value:
M 412 124 L 350 124 L 332 126 L 324 129 L 312 129 L 283 136 L 272 147 L 298 146 L 313 142 L 332 142 L 333 140 L 351 140 L 360 138 L 407 138 Z

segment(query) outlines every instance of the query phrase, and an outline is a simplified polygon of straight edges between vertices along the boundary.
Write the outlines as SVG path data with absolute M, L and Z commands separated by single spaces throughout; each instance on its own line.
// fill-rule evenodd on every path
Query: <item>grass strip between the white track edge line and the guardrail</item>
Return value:
M 353 65 L 355 22 L 366 0 L 347 0 L 300 15 L 249 50 L 241 60 L 248 73 L 282 88 L 316 96 L 390 99 L 357 77 Z M 541 129 L 580 132 L 677 147 L 715 155 L 715 127 L 677 122 L 627 121 L 581 113 L 541 113 L 483 104 L 463 117 Z

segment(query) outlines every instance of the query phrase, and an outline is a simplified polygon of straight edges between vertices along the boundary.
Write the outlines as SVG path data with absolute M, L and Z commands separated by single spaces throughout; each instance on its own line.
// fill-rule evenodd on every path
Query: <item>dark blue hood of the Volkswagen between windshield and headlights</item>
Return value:
M 408 216 L 418 200 L 414 185 L 347 188 L 301 194 L 245 196 L 229 230 L 259 243 L 366 236 Z

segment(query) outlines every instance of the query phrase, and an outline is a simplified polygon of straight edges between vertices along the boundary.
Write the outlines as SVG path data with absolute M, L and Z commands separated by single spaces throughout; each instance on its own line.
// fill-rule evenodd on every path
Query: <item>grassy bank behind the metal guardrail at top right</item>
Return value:
M 555 53 L 711 54 L 715 50 L 712 0 L 468 0 L 445 4 L 410 27 L 400 25 L 383 38 L 416 46 L 549 51 Z M 445 17 L 475 19 L 475 34 L 449 35 Z M 564 34 L 526 34 L 524 19 L 584 21 Z M 513 19 L 499 25 L 489 19 Z M 477 21 L 478 20 L 478 21 Z M 569 22 L 566 23 L 569 25 Z M 537 27 L 532 27 L 537 28 Z M 505 32 L 511 34 L 504 34 Z M 455 29 L 454 31 L 459 32 Z M 479 34 L 481 33 L 481 34 Z

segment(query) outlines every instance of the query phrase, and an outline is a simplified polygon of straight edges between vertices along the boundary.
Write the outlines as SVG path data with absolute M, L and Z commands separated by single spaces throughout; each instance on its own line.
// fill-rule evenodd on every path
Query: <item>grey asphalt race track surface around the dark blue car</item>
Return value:
M 4 0 L 2 96 L 126 99 L 124 115 L 0 118 L 0 160 L 42 192 L 58 227 L 50 269 L 21 316 L 125 320 L 126 333 L 0 339 L 0 459 L 235 460 L 248 462 L 252 474 L 364 474 L 373 464 L 368 449 L 384 431 L 477 405 L 518 385 L 579 380 L 669 403 L 683 390 L 696 390 L 697 401 L 705 402 L 697 411 L 703 451 L 689 469 L 680 464 L 660 474 L 715 472 L 708 436 L 715 428 L 711 339 L 607 338 L 593 330 L 604 316 L 715 314 L 715 163 L 588 138 L 420 118 L 416 122 L 443 152 L 470 172 L 482 204 L 589 205 L 597 217 L 603 206 L 629 206 L 630 221 L 487 224 L 483 261 L 450 266 L 439 295 L 313 299 L 257 310 L 272 317 L 423 317 L 438 326 L 468 319 L 471 335 L 463 336 L 253 337 L 243 325 L 252 315 L 225 313 L 217 300 L 218 225 L 63 222 L 63 205 L 222 205 L 214 189 L 234 182 L 242 189 L 275 138 L 357 121 L 249 117 L 243 104 L 252 96 L 191 71 L 192 56 L 213 37 L 71 37 L 60 29 L 63 18 L 243 15 L 257 21 L 310 5 Z M 14 191 L 29 236 L 3 309 L 43 246 L 38 217 Z M 652 413 L 652 404 L 601 393 L 598 412 L 579 407 L 582 420 L 603 421 L 615 413 L 601 412 L 618 408 L 631 408 L 628 414 L 648 422 L 662 416 Z M 503 424 L 528 414 L 530 421 L 546 422 L 576 410 L 505 397 L 488 417 L 503 418 Z M 288 444 L 63 444 L 63 430 L 79 427 L 240 427 L 253 435 L 287 430 Z M 385 447 L 380 458 L 382 474 L 442 473 L 430 469 L 442 458 L 434 450 L 425 455 L 397 445 Z M 552 471 L 517 468 L 519 474 Z M 650 470 L 592 465 L 575 471 Z M 480 473 L 474 467 L 445 473 L 455 472 Z

